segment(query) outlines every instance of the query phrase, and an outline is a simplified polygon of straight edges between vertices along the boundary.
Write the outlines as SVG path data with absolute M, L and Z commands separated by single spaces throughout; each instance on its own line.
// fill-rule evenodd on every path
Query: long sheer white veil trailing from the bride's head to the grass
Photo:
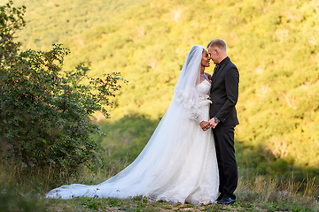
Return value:
M 183 64 L 174 89 L 175 95 L 167 112 L 133 163 L 113 178 L 97 186 L 79 184 L 61 186 L 51 190 L 46 197 L 70 199 L 73 196 L 97 195 L 98 197 L 128 198 L 143 195 L 158 201 L 163 198 L 163 193 L 168 195 L 167 190 L 176 187 L 175 182 L 182 172 L 180 169 L 183 171 L 188 169 L 188 165 L 183 163 L 189 160 L 186 157 L 191 151 L 191 145 L 190 142 L 185 142 L 184 138 L 194 131 L 194 122 L 196 122 L 194 119 L 198 119 L 196 110 L 199 97 L 196 86 L 200 82 L 200 63 L 204 49 L 200 45 L 191 48 Z M 187 171 L 191 175 L 197 170 Z M 190 189 L 190 182 L 187 186 L 181 185 L 180 182 L 177 185 L 178 194 L 176 195 L 182 196 L 183 193 L 189 193 L 187 189 Z

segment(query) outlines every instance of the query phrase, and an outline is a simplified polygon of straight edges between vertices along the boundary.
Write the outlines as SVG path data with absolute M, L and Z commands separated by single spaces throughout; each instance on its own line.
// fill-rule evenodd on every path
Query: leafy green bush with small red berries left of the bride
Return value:
M 113 106 L 110 96 L 121 87 L 120 73 L 89 79 L 84 63 L 64 71 L 70 51 L 61 44 L 50 51 L 19 52 L 12 34 L 24 26 L 24 11 L 12 7 L 12 1 L 1 7 L 0 159 L 14 161 L 19 169 L 73 173 L 82 163 L 97 162 L 103 150 L 90 138 L 100 133 L 90 117 L 96 111 L 109 117 L 105 107 Z

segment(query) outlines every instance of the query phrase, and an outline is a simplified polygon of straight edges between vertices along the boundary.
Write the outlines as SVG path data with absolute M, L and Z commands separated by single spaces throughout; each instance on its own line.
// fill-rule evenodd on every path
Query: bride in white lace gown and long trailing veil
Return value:
M 209 120 L 209 56 L 191 48 L 174 89 L 174 97 L 151 139 L 136 160 L 97 186 L 72 184 L 46 194 L 49 198 L 128 198 L 191 204 L 214 203 L 219 175 Z

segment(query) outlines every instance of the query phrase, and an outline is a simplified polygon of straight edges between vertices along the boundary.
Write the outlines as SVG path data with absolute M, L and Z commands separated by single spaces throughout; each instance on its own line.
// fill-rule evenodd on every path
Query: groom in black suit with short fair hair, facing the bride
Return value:
M 237 162 L 234 148 L 234 129 L 239 124 L 235 105 L 238 99 L 239 72 L 227 57 L 226 43 L 214 39 L 207 45 L 208 54 L 216 64 L 212 76 L 209 125 L 213 128 L 217 163 L 220 175 L 217 199 L 220 204 L 236 201 Z

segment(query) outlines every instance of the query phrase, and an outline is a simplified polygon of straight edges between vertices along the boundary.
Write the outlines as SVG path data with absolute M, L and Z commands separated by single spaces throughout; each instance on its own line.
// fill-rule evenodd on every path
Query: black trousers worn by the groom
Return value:
M 217 125 L 213 129 L 220 176 L 219 192 L 236 200 L 238 173 L 234 148 L 235 125 Z

